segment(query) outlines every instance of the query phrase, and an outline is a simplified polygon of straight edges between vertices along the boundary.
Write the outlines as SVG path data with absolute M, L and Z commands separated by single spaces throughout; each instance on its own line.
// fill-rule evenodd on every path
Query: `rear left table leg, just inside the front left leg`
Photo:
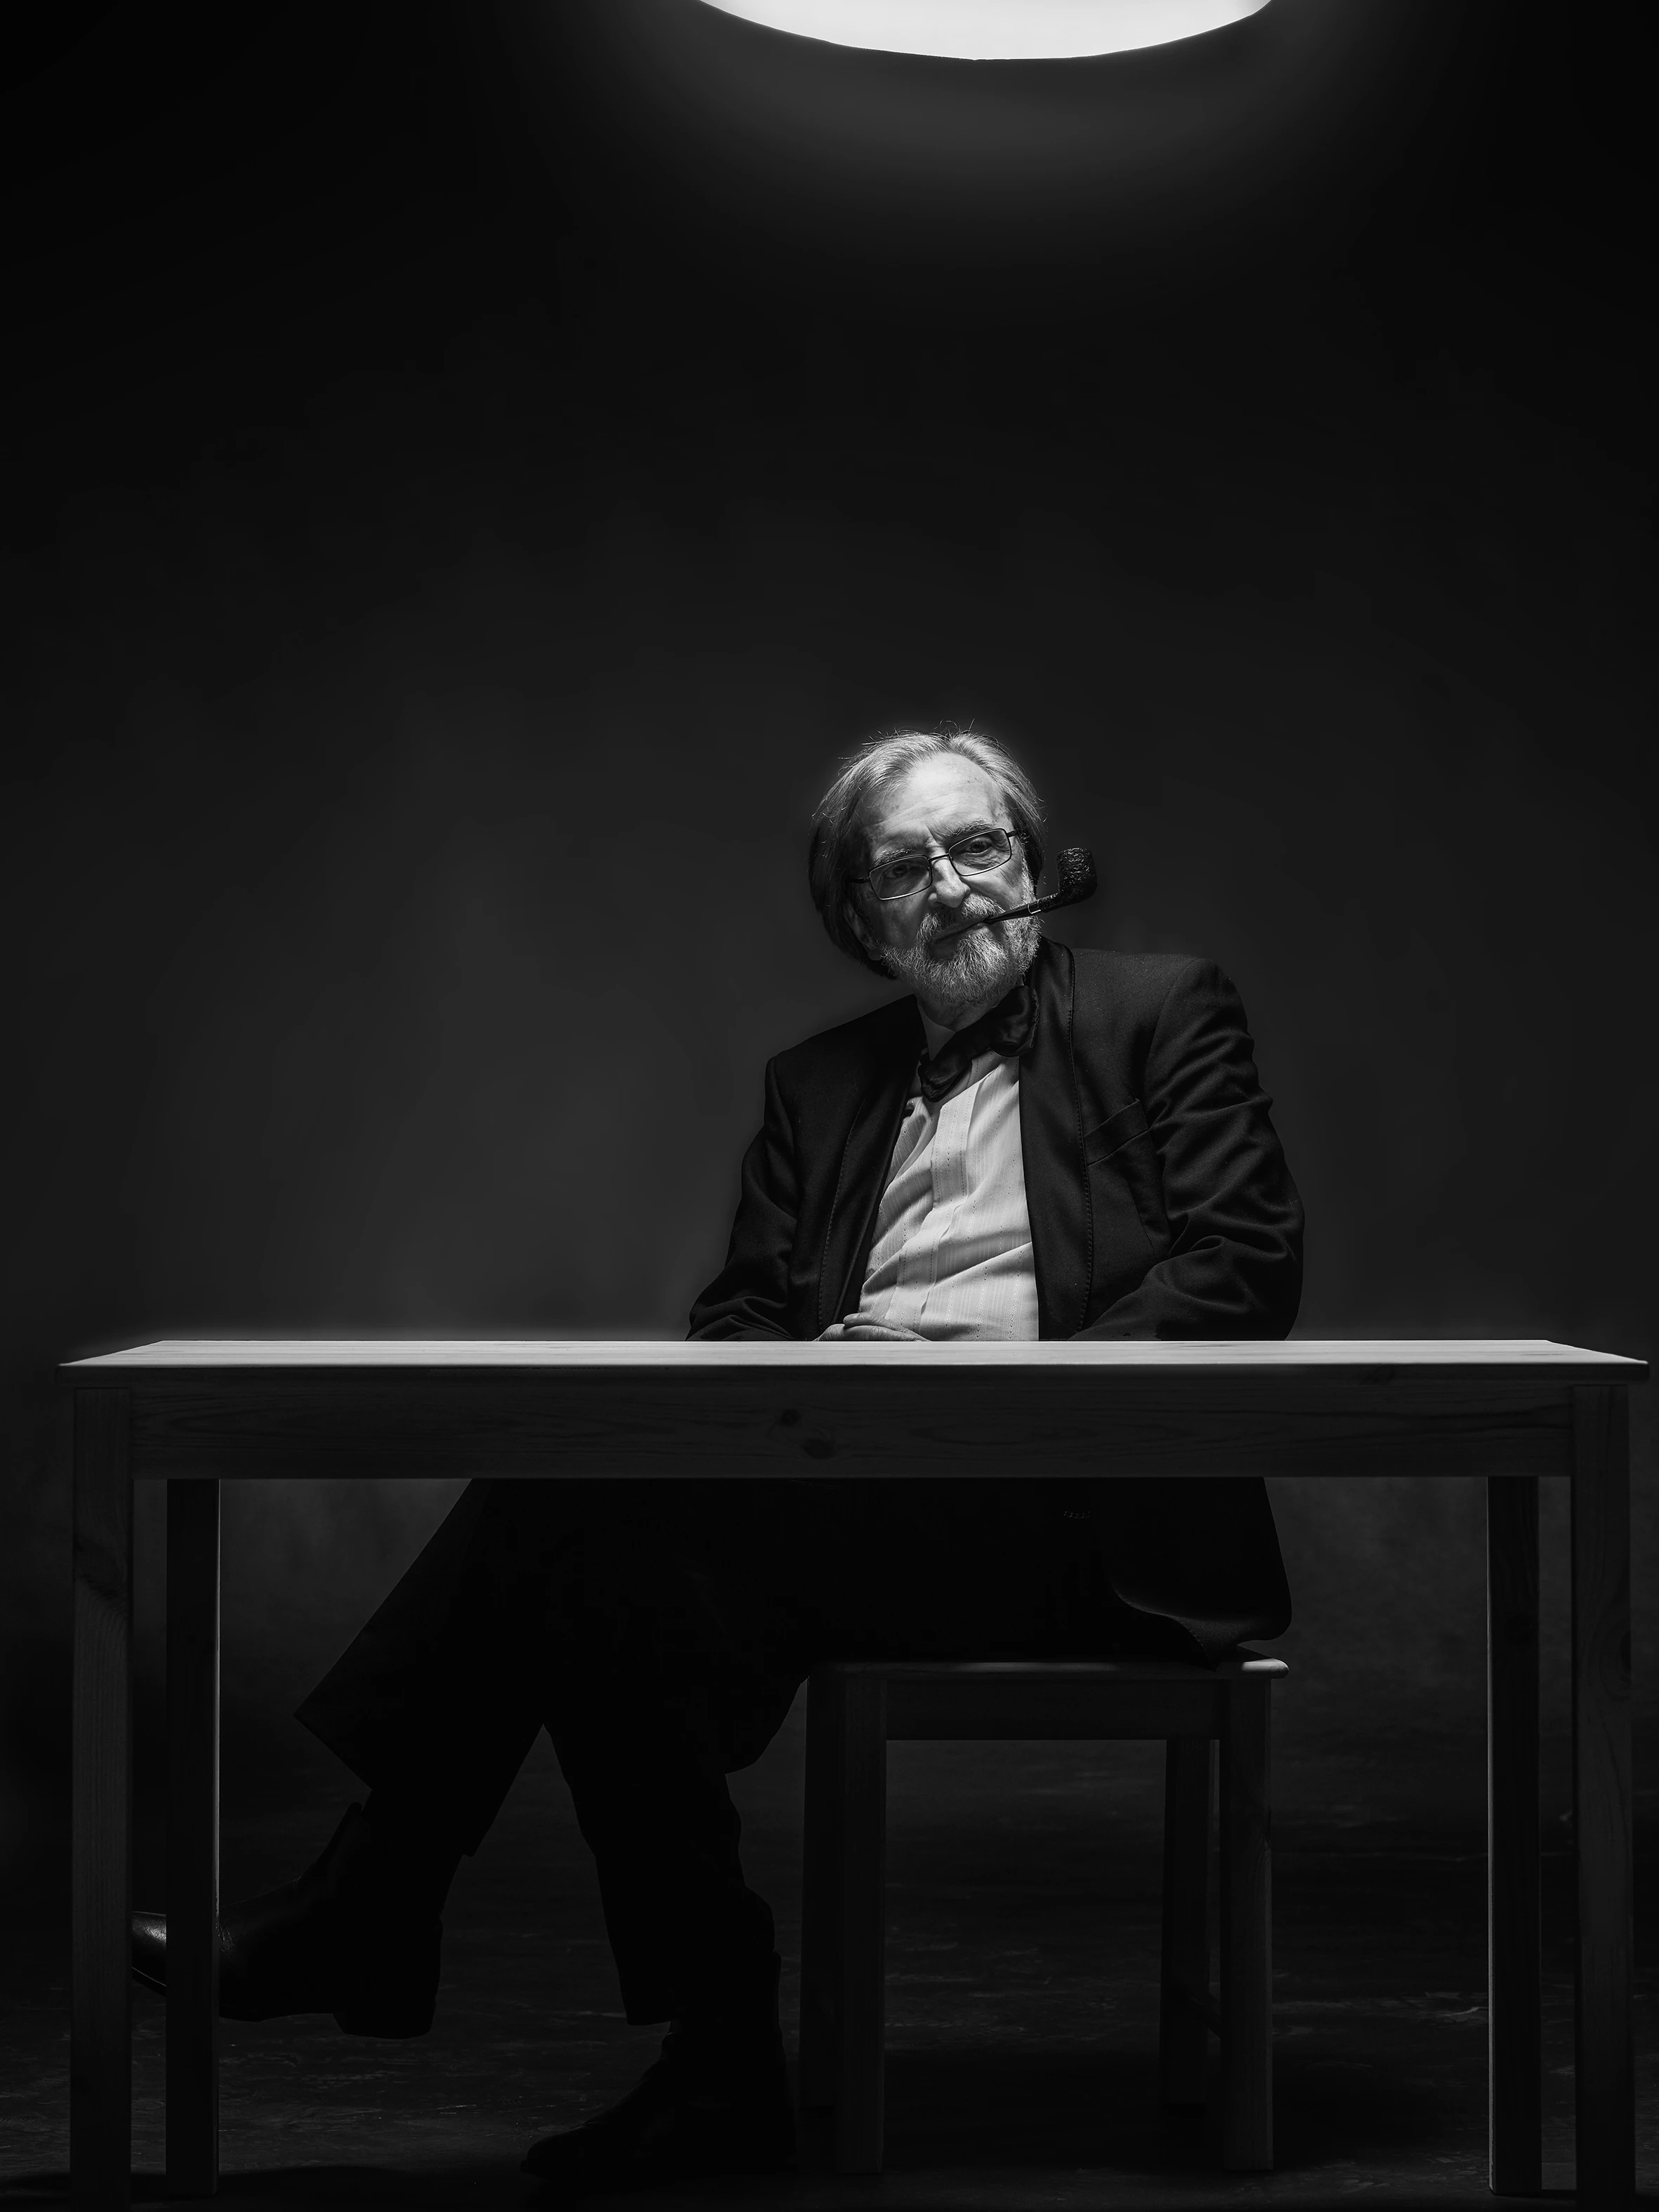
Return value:
M 219 1484 L 168 1482 L 168 2197 L 219 2188 Z

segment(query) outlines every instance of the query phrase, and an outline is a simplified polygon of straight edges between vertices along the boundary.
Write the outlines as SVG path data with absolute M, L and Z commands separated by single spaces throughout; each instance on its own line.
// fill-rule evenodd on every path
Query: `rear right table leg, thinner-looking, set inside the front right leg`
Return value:
M 1489 2181 L 1544 2188 L 1537 1898 L 1537 1480 L 1486 1482 Z

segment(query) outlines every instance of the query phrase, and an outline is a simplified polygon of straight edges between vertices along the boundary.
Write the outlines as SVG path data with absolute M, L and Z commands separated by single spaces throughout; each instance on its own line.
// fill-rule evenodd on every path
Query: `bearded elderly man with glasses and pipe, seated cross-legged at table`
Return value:
M 867 743 L 812 896 L 911 987 L 781 1053 L 706 1338 L 1283 1336 L 1301 1203 L 1243 1009 L 1206 960 L 1073 953 L 1024 905 L 1042 810 L 973 734 Z M 832 1657 L 1214 1659 L 1290 1593 L 1259 1482 L 476 1482 L 301 1708 L 369 1783 L 296 1882 L 228 1907 L 221 2006 L 434 2013 L 442 1900 L 546 1725 L 630 2022 L 661 2059 L 538 2143 L 568 2190 L 768 2168 L 794 2130 L 772 1913 L 726 1776 Z M 135 1920 L 166 1978 L 166 1922 Z

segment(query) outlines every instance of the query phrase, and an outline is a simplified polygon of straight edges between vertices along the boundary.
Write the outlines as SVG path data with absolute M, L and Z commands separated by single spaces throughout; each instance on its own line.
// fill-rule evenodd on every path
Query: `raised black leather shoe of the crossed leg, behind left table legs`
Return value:
M 219 2015 L 334 2013 L 347 2035 L 425 2035 L 442 1922 L 398 1882 L 363 1807 L 296 1882 L 219 1916 Z M 164 1913 L 133 1913 L 133 1973 L 168 1986 Z

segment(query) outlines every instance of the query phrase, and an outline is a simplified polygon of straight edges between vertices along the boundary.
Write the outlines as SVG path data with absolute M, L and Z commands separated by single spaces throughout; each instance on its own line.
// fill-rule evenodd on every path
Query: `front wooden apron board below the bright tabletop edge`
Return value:
M 1555 1383 L 1002 1365 L 763 1374 L 150 1376 L 153 1475 L 1564 1475 Z

